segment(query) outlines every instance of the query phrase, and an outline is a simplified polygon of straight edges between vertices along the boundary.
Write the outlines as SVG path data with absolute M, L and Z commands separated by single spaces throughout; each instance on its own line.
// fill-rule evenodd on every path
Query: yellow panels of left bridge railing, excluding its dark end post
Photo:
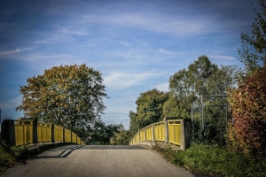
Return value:
M 17 146 L 34 143 L 33 120 L 15 120 L 14 132 L 15 144 Z M 37 123 L 37 142 L 73 142 L 80 145 L 85 145 L 82 139 L 70 130 L 64 127 L 59 127 L 43 122 Z

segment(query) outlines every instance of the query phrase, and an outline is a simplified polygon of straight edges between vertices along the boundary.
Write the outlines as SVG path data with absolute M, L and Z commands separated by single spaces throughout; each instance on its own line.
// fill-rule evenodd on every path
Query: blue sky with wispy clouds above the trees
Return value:
M 23 112 L 20 86 L 56 65 L 102 73 L 106 124 L 129 128 L 140 93 L 168 91 L 171 75 L 206 55 L 239 65 L 253 0 L 0 0 L 0 109 Z

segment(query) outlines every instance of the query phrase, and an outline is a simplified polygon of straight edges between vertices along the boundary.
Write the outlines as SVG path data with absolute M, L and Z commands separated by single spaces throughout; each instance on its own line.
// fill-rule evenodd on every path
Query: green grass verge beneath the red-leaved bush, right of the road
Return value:
M 156 150 L 171 163 L 185 166 L 194 173 L 214 176 L 266 176 L 266 160 L 247 157 L 226 148 L 192 144 L 184 151 L 156 146 Z

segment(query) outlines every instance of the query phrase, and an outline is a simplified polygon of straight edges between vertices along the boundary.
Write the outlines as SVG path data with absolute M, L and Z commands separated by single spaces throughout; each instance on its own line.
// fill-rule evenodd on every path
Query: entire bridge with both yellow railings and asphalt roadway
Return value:
M 131 139 L 130 145 L 84 145 L 77 135 L 63 127 L 29 120 L 3 123 L 2 133 L 9 130 L 11 134 L 1 134 L 1 137 L 13 138 L 9 143 L 15 145 L 35 141 L 75 143 L 46 150 L 24 165 L 8 169 L 3 176 L 197 176 L 169 164 L 151 147 L 143 146 L 163 142 L 184 149 L 184 139 L 190 137 L 185 134 L 191 133 L 192 125 L 187 119 L 168 119 L 144 127 Z

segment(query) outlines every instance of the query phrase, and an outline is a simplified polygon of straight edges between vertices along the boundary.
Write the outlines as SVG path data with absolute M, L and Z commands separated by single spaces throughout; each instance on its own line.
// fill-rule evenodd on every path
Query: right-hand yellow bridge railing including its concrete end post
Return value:
M 180 147 L 184 150 L 192 141 L 191 119 L 168 119 L 153 123 L 140 129 L 132 137 L 129 144 L 152 144 L 153 142 L 165 142 Z

